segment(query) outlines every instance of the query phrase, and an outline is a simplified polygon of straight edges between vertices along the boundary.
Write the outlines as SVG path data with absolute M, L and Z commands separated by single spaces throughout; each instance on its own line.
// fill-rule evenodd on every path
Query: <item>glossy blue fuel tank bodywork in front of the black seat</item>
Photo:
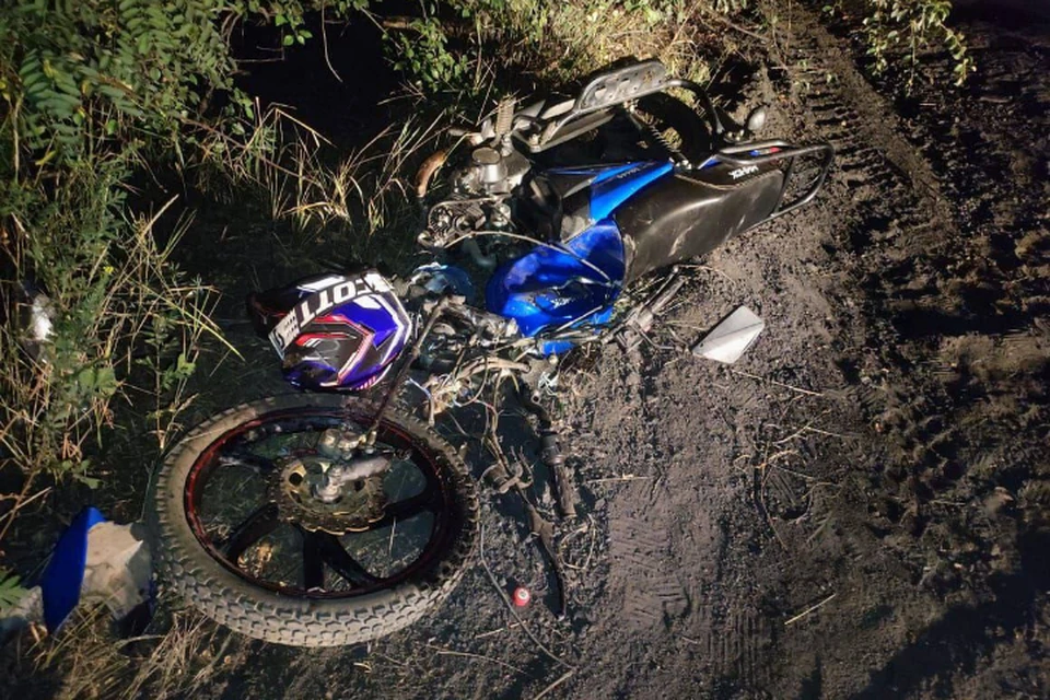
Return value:
M 612 213 L 672 171 L 670 162 L 656 161 L 544 173 L 572 180 L 575 194 L 586 188 L 582 206 L 562 214 L 574 230 L 562 231 L 560 240 L 536 245 L 497 268 L 486 289 L 488 310 L 516 320 L 526 337 L 607 323 L 625 276 L 623 241 Z M 563 352 L 569 347 L 548 342 L 544 352 Z

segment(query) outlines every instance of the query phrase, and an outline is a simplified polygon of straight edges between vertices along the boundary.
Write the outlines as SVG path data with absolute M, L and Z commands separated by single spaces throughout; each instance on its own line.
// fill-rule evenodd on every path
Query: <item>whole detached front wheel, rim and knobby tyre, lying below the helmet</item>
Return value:
M 365 642 L 434 608 L 474 550 L 474 480 L 394 410 L 351 457 L 374 415 L 355 398 L 292 395 L 196 428 L 151 499 L 163 580 L 215 621 L 296 646 Z

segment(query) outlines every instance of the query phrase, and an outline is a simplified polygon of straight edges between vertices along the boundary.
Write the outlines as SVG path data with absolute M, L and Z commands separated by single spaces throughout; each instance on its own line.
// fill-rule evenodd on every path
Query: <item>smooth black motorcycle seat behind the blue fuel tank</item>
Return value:
M 756 167 L 728 184 L 732 175 L 721 170 L 664 177 L 620 207 L 614 219 L 623 238 L 625 283 L 710 253 L 773 213 L 783 194 L 782 171 Z

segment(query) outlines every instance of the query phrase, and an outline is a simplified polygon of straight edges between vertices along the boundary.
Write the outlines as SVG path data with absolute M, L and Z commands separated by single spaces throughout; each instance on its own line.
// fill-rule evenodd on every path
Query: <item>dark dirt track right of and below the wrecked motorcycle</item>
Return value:
M 536 592 L 532 635 L 479 563 L 368 648 L 231 637 L 194 697 L 1050 697 L 1050 31 L 982 7 L 969 85 L 928 58 L 908 97 L 791 9 L 747 97 L 836 166 L 696 267 L 652 343 L 569 375 L 568 620 L 487 492 L 485 564 Z M 739 304 L 767 324 L 740 362 L 684 351 Z

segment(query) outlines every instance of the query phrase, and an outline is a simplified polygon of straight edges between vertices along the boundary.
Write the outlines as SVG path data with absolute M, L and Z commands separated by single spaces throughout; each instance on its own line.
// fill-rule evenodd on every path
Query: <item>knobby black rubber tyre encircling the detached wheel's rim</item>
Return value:
M 289 409 L 347 409 L 373 416 L 375 407 L 355 398 L 289 395 L 244 404 L 194 429 L 168 454 L 150 502 L 154 562 L 161 581 L 185 600 L 226 627 L 267 642 L 295 646 L 355 644 L 411 625 L 456 586 L 472 556 L 478 529 L 474 479 L 453 447 L 420 421 L 387 409 L 384 425 L 410 436 L 439 465 L 452 492 L 451 540 L 440 560 L 410 580 L 339 598 L 290 596 L 255 585 L 223 565 L 201 544 L 189 523 L 187 478 L 202 453 L 223 434 L 248 421 Z

